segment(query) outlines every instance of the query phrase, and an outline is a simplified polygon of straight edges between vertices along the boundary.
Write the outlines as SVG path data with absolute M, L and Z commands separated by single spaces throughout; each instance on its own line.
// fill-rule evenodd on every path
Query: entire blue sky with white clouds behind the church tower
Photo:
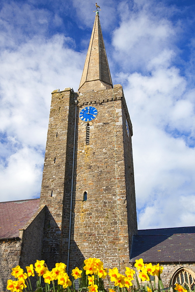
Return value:
M 100 1 L 133 124 L 139 228 L 195 222 L 195 3 Z M 1 201 L 39 197 L 51 92 L 77 91 L 93 1 L 0 3 Z

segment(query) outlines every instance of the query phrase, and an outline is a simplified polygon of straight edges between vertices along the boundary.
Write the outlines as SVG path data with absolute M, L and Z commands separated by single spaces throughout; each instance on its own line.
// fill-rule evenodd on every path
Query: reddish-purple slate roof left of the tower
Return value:
M 40 199 L 0 202 L 0 239 L 19 236 L 19 229 L 39 209 Z

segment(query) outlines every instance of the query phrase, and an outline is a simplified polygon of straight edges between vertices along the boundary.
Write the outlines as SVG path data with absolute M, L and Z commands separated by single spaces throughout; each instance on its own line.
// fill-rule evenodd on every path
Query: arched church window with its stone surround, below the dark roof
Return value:
M 170 286 L 174 287 L 175 284 L 188 286 L 191 290 L 194 290 L 195 273 L 187 267 L 180 267 L 171 277 Z

